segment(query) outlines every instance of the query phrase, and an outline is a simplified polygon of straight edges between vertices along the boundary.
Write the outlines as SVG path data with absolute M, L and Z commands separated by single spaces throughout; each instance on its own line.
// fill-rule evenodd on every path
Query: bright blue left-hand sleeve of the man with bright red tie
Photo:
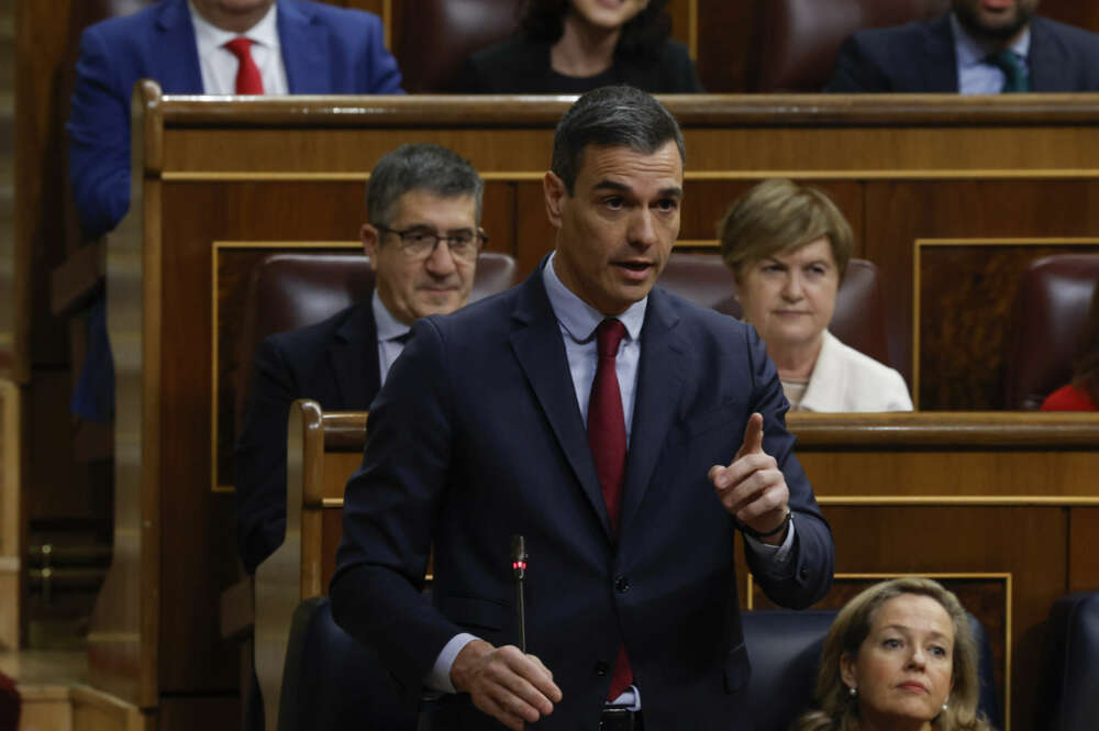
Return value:
M 69 110 L 69 179 L 80 225 L 98 236 L 130 207 L 130 89 L 121 89 L 99 29 L 80 37 Z

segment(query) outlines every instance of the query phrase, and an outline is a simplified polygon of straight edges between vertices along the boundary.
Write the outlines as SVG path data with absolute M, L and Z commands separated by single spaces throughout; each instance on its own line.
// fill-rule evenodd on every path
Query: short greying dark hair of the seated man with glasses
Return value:
M 419 142 L 382 155 L 366 187 L 367 220 L 389 225 L 397 200 L 410 190 L 426 190 L 441 198 L 473 196 L 480 223 L 485 182 L 469 160 L 442 145 Z

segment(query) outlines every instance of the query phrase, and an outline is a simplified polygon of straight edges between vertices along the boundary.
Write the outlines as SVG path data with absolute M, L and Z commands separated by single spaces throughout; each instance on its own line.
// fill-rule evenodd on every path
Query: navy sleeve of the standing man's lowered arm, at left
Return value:
M 413 331 L 371 405 L 363 465 L 344 494 L 330 592 L 336 622 L 419 695 L 462 629 L 421 595 L 433 517 L 446 499 L 453 406 L 436 324 L 420 320 Z

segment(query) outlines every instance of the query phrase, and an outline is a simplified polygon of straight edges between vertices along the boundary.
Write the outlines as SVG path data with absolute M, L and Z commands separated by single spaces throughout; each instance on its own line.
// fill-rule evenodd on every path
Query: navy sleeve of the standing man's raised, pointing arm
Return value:
M 790 489 L 795 541 L 792 555 L 778 566 L 747 545 L 744 553 L 752 575 L 773 601 L 803 609 L 823 598 L 832 586 L 835 544 L 809 478 L 793 454 L 795 438 L 786 429 L 789 403 L 782 394 L 778 370 L 767 357 L 766 346 L 754 328 L 748 339 L 748 354 L 757 384 L 752 410 L 763 414 L 764 451 L 778 462 Z

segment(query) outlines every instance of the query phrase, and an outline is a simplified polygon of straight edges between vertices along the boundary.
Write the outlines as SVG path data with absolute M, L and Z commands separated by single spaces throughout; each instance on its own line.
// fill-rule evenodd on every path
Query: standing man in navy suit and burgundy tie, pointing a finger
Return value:
M 736 533 L 779 603 L 830 586 L 831 532 L 763 342 L 653 288 L 684 159 L 645 92 L 581 97 L 544 178 L 554 253 L 519 287 L 418 321 L 374 402 L 333 612 L 406 693 L 446 694 L 436 728 L 737 728 Z

